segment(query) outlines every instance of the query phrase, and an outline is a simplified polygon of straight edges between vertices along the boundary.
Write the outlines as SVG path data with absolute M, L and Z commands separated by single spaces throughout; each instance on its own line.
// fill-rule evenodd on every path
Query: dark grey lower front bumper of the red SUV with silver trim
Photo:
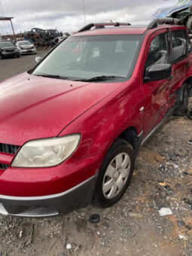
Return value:
M 0 214 L 20 217 L 50 217 L 84 208 L 93 199 L 97 175 L 60 194 L 43 197 L 0 195 Z

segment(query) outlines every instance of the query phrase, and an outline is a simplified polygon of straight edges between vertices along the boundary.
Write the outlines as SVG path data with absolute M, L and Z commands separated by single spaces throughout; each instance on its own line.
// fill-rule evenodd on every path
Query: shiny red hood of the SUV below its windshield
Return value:
M 23 73 L 0 82 L 0 143 L 58 136 L 123 83 L 87 83 Z M 81 132 L 81 131 L 80 131 Z

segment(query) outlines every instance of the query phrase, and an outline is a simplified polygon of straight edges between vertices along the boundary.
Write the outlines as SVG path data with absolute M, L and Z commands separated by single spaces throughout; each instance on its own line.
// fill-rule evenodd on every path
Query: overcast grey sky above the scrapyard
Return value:
M 16 32 L 55 29 L 75 32 L 86 23 L 130 22 L 146 24 L 157 8 L 175 5 L 177 0 L 0 0 L 0 16 L 14 17 Z M 9 22 L 0 22 L 0 33 L 11 32 Z

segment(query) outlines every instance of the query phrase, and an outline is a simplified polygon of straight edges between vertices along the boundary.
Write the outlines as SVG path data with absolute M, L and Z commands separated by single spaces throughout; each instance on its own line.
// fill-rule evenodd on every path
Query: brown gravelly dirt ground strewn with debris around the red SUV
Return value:
M 29 69 L 34 59 L 0 59 L 0 80 Z M 149 139 L 136 159 L 130 187 L 110 209 L 88 206 L 42 219 L 1 216 L 0 255 L 191 256 L 191 126 L 187 117 L 172 117 Z M 172 215 L 161 217 L 163 207 Z M 100 215 L 98 224 L 89 222 L 93 213 Z

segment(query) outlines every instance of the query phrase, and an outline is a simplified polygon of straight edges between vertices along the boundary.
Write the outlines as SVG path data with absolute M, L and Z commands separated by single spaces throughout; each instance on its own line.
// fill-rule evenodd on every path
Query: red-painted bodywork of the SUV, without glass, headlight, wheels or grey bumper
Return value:
M 0 172 L 0 194 L 20 197 L 57 194 L 99 171 L 112 142 L 128 127 L 147 135 L 175 103 L 175 90 L 192 74 L 186 56 L 172 65 L 172 81 L 142 83 L 148 47 L 154 35 L 183 26 L 96 29 L 78 35 L 144 34 L 132 77 L 123 83 L 85 83 L 41 78 L 27 73 L 0 82 L 0 143 L 20 145 L 32 139 L 81 133 L 75 154 L 59 166 Z M 72 86 L 71 86 L 72 85 Z M 140 111 L 142 106 L 145 111 Z M 0 163 L 11 163 L 0 154 Z

